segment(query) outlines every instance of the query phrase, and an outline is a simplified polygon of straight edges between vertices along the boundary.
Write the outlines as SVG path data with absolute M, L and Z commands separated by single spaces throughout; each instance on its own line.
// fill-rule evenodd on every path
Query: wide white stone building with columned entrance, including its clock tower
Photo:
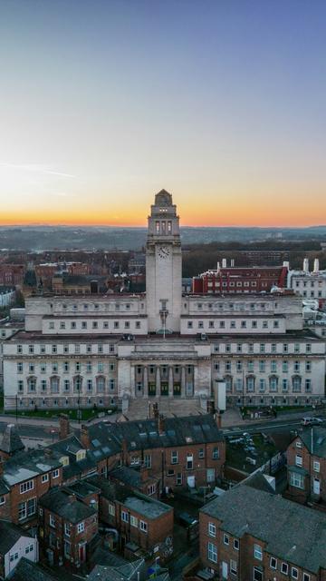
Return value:
M 205 408 L 224 385 L 229 405 L 323 398 L 325 343 L 302 329 L 301 298 L 182 294 L 178 220 L 158 192 L 146 293 L 26 300 L 24 330 L 3 345 L 5 409 L 128 409 L 138 399 L 147 415 L 149 400 Z

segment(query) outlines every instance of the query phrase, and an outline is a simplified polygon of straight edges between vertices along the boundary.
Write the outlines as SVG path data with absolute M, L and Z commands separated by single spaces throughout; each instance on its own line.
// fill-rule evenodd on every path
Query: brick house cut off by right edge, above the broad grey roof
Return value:
M 306 428 L 287 449 L 288 495 L 297 502 L 326 501 L 326 428 Z

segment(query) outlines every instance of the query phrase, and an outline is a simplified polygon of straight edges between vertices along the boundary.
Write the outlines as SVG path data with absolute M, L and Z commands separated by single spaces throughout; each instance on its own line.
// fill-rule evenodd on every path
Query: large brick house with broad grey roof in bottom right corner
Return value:
M 324 581 L 326 515 L 237 485 L 199 513 L 202 564 L 218 578 Z

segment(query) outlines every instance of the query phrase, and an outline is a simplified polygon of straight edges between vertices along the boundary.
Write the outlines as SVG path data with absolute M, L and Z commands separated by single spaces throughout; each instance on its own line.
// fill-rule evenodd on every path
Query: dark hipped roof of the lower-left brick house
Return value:
M 72 492 L 69 488 L 52 488 L 40 498 L 39 504 L 73 525 L 97 514 L 95 508 L 88 507 L 77 498 L 71 500 L 70 496 Z

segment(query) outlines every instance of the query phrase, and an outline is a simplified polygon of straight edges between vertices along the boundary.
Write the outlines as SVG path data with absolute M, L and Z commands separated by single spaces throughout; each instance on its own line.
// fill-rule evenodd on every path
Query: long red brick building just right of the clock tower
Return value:
M 193 278 L 192 291 L 203 294 L 270 292 L 285 288 L 288 266 L 222 267 Z

